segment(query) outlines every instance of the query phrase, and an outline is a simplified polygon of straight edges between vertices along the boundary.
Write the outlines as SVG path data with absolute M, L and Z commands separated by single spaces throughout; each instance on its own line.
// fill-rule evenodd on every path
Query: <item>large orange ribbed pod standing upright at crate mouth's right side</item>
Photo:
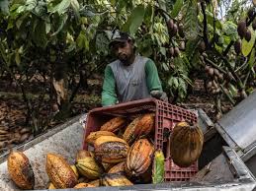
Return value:
M 152 162 L 154 148 L 147 139 L 139 139 L 128 151 L 126 172 L 128 176 L 138 176 L 144 173 Z

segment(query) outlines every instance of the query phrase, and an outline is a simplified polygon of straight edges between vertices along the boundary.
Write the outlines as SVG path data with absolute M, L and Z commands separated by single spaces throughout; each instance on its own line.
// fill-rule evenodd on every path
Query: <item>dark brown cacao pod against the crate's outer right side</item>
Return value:
M 199 159 L 203 144 L 204 135 L 200 127 L 179 122 L 170 138 L 171 158 L 177 165 L 188 167 Z

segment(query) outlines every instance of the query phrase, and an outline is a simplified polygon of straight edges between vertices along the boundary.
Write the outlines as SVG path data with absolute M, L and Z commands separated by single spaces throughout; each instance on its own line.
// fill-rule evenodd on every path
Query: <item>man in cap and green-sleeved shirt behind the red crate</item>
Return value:
M 103 106 L 151 96 L 168 100 L 154 62 L 135 54 L 132 38 L 127 32 L 113 32 L 110 48 L 118 59 L 105 69 Z

